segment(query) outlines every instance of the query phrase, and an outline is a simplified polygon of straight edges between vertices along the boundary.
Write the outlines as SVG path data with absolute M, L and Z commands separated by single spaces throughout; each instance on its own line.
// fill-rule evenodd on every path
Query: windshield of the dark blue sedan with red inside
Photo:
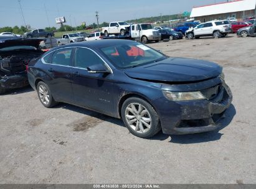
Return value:
M 100 48 L 103 54 L 115 65 L 124 69 L 147 65 L 158 62 L 168 57 L 138 42 L 127 42 L 127 44 L 112 45 Z

